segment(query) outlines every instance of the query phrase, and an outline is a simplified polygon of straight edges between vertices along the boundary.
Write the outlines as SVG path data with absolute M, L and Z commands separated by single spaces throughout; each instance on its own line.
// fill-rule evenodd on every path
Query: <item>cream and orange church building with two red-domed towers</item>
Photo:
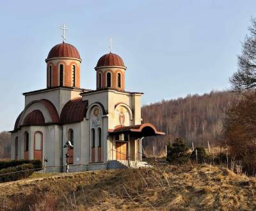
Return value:
M 143 93 L 125 91 L 123 59 L 111 51 L 102 56 L 94 68 L 96 90 L 87 90 L 80 87 L 79 52 L 64 41 L 45 59 L 47 87 L 23 93 L 24 110 L 12 130 L 12 159 L 44 164 L 47 158 L 46 166 L 68 162 L 70 169 L 86 170 L 116 168 L 116 162 L 139 165 L 143 137 L 164 132 L 141 122 Z M 68 141 L 72 148 L 64 147 Z

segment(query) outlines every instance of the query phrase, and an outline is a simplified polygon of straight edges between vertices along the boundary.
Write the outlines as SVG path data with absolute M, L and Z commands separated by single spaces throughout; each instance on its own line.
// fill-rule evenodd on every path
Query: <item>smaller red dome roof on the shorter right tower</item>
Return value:
M 99 66 L 124 66 L 124 61 L 117 54 L 109 53 L 100 57 L 95 68 Z

